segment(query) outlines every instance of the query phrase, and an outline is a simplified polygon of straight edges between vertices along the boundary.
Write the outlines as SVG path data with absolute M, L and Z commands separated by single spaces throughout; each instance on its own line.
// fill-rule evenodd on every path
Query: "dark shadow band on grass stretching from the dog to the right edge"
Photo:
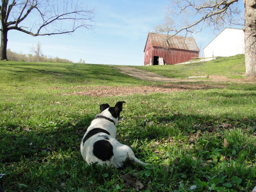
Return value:
M 145 139 L 164 139 L 170 137 L 176 137 L 179 139 L 184 135 L 190 135 L 191 133 L 216 132 L 216 128 L 220 129 L 232 129 L 232 128 L 251 128 L 251 132 L 256 131 L 256 120 L 254 117 L 241 117 L 232 118 L 232 114 L 223 112 L 219 114 L 221 117 L 209 116 L 209 115 L 187 115 L 187 114 L 172 114 L 154 117 L 150 119 L 152 123 L 147 121 L 140 121 L 137 126 L 132 130 L 122 130 L 122 132 L 129 131 L 129 138 L 127 143 L 132 143 L 134 138 L 139 140 Z M 142 123 L 143 122 L 143 123 Z M 228 126 L 222 126 L 223 123 L 228 123 Z M 122 123 L 119 125 L 122 129 Z M 254 127 L 254 129 L 252 129 Z M 191 132 L 193 130 L 193 132 Z M 118 132 L 118 129 L 117 129 Z

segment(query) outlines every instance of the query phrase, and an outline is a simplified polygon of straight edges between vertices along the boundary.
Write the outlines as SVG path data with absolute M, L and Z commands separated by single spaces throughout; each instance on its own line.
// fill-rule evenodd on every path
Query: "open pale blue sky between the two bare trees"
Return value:
M 143 65 L 144 47 L 148 32 L 163 22 L 169 0 L 90 0 L 84 1 L 95 8 L 95 29 L 78 29 L 72 35 L 32 37 L 11 30 L 7 48 L 15 52 L 30 53 L 30 46 L 41 42 L 44 55 L 79 59 L 93 64 Z M 242 1 L 239 1 L 242 7 Z M 241 27 L 240 27 L 241 28 Z M 193 37 L 202 48 L 216 36 L 204 29 Z

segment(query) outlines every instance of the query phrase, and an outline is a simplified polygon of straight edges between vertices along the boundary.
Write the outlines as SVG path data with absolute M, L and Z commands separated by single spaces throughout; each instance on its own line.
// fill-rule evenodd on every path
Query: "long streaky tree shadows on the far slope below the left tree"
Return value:
M 23 65 L 22 65 L 23 66 Z M 11 66 L 4 66 L 5 68 L 10 68 L 10 69 L 5 69 L 2 68 L 1 70 L 6 70 L 10 71 L 13 73 L 12 75 L 18 76 L 18 79 L 15 78 L 15 81 L 31 81 L 34 82 L 36 81 L 36 78 L 39 78 L 40 82 L 42 82 L 41 76 L 48 75 L 49 78 L 44 79 L 46 82 L 51 82 L 54 80 L 55 83 L 71 83 L 71 82 L 88 82 L 88 81 L 107 81 L 107 82 L 130 82 L 132 83 L 132 79 L 130 76 L 119 73 L 115 68 L 112 68 L 110 66 L 103 66 L 103 65 L 98 65 L 98 66 L 80 66 L 79 68 L 73 68 L 73 66 L 58 66 L 59 70 L 55 69 L 52 65 L 36 65 L 36 66 L 42 66 L 44 69 L 34 69 L 34 68 L 27 68 L 27 67 L 22 67 L 22 66 L 17 66 L 11 65 Z M 33 66 L 33 65 L 31 65 Z M 22 71 L 21 71 L 22 70 Z M 17 74 L 15 74 L 17 73 Z M 114 75 L 113 75 L 114 74 Z M 134 82 L 135 83 L 135 82 Z M 138 82 L 137 82 L 138 83 Z

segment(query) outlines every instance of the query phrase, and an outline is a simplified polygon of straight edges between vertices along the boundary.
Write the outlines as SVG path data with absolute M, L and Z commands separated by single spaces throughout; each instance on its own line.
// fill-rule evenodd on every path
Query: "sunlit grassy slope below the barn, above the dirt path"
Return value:
M 218 57 L 209 62 L 184 65 L 135 66 L 170 78 L 188 78 L 189 76 L 221 75 L 230 79 L 245 78 L 244 55 Z

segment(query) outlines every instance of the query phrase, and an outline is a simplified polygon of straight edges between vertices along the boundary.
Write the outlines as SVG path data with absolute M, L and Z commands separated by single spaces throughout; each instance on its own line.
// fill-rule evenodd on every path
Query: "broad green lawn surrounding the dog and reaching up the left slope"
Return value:
M 183 67 L 179 78 L 185 70 L 193 73 Z M 7 192 L 136 191 L 126 187 L 127 177 L 145 191 L 191 191 L 193 185 L 193 191 L 251 191 L 256 185 L 254 84 L 89 97 L 63 93 L 152 82 L 90 64 L 0 62 L 0 74 L 0 186 Z M 82 159 L 80 142 L 99 105 L 117 101 L 126 101 L 117 140 L 150 166 L 101 168 Z

